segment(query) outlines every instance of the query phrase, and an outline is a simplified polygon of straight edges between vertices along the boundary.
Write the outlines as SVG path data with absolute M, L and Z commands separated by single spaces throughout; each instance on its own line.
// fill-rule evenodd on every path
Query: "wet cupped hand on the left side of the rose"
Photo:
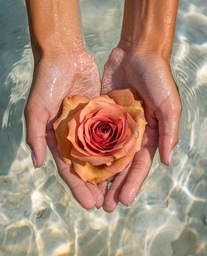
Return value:
M 48 144 L 60 176 L 86 209 L 101 207 L 103 194 L 98 186 L 82 181 L 72 167 L 63 162 L 57 149 L 53 123 L 60 115 L 65 97 L 81 94 L 93 98 L 100 95 L 100 90 L 98 67 L 85 49 L 64 54 L 47 53 L 35 61 L 33 82 L 25 107 L 26 140 L 32 150 L 34 167 L 42 166 Z

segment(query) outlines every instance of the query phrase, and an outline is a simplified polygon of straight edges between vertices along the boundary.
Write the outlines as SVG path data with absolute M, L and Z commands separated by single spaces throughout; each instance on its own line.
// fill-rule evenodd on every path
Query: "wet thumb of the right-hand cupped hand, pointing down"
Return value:
M 181 115 L 180 98 L 167 98 L 156 111 L 158 120 L 158 149 L 162 164 L 170 166 L 173 157 L 173 148 L 178 143 L 179 121 Z

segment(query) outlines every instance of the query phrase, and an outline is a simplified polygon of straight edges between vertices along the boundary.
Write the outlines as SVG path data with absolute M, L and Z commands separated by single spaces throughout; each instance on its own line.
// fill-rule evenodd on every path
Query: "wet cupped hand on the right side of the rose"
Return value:
M 102 79 L 105 94 L 112 89 L 133 88 L 142 99 L 146 121 L 141 150 L 132 166 L 116 175 L 103 204 L 113 211 L 118 202 L 129 205 L 149 173 L 158 146 L 160 161 L 169 166 L 178 142 L 181 103 L 170 61 L 156 52 L 113 49 Z

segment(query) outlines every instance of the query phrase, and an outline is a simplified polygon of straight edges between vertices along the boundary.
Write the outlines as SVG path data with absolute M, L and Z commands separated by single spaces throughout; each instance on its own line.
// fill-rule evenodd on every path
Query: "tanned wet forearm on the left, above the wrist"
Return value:
M 26 0 L 34 54 L 82 46 L 78 0 Z

